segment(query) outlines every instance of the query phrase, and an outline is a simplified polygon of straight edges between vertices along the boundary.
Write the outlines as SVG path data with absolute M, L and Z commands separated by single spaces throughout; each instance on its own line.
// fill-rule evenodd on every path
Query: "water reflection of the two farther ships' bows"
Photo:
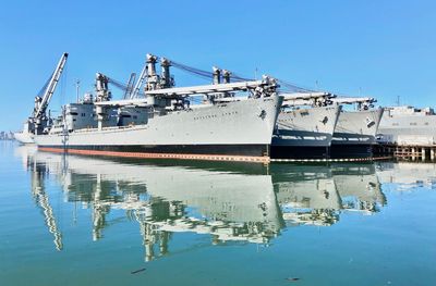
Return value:
M 331 225 L 341 211 L 371 214 L 386 203 L 373 164 L 278 164 L 270 172 L 288 225 Z

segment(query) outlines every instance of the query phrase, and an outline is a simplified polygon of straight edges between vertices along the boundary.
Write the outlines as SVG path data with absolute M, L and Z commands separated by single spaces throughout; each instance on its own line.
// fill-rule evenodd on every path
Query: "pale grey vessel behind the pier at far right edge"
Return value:
M 436 145 L 436 114 L 431 108 L 385 108 L 377 137 L 383 144 Z

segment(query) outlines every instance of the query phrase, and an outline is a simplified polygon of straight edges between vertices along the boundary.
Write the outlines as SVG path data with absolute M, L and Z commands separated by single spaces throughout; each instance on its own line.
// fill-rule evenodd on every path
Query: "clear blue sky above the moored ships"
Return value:
M 93 89 L 96 72 L 125 82 L 147 52 L 203 70 L 271 74 L 300 86 L 435 105 L 435 1 L 3 1 L 0 130 L 20 129 L 62 52 L 52 109 Z M 202 84 L 175 75 L 178 85 Z M 61 92 L 62 91 L 62 92 Z M 117 95 L 117 90 L 114 89 Z M 120 95 L 120 92 L 118 92 Z

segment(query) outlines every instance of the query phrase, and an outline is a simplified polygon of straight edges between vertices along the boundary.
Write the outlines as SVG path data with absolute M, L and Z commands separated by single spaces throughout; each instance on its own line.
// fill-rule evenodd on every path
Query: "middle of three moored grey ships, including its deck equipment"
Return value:
M 328 158 L 341 110 L 340 105 L 330 104 L 330 98 L 334 96 L 327 92 L 296 92 L 282 96 L 284 101 L 272 135 L 271 157 Z

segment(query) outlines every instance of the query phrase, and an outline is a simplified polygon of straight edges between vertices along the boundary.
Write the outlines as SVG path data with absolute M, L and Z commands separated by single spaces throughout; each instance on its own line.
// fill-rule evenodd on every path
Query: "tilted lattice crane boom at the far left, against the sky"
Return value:
M 51 97 L 55 94 L 56 86 L 58 85 L 59 78 L 61 77 L 62 71 L 66 63 L 68 53 L 63 53 L 59 63 L 55 70 L 55 73 L 51 75 L 51 78 L 47 85 L 47 88 L 44 92 L 43 98 L 35 98 L 35 110 L 33 114 L 33 121 L 35 124 L 35 133 L 38 134 L 41 132 L 41 123 L 46 117 L 46 110 L 48 104 L 50 103 Z M 44 128 L 44 127 L 43 127 Z

